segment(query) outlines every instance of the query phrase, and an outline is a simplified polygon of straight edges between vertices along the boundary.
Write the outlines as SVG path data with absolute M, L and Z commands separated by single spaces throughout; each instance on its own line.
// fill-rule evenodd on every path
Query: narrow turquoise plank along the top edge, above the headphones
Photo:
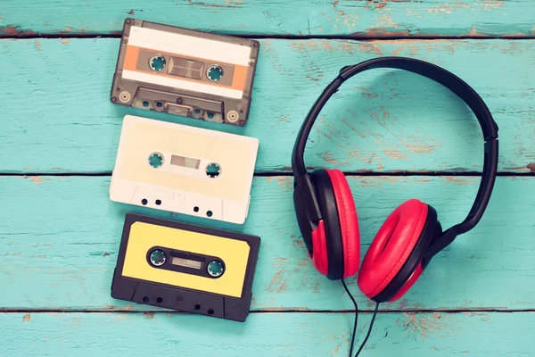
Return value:
M 533 13 L 531 0 L 22 0 L 3 4 L 0 36 L 110 34 L 136 17 L 236 35 L 528 37 Z

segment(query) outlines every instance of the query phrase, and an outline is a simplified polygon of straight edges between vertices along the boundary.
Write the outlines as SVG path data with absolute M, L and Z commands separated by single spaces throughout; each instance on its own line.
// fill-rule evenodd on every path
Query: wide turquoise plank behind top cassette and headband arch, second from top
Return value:
M 118 46 L 110 38 L 0 41 L 0 62 L 24 59 L 4 71 L 0 84 L 1 172 L 109 172 L 127 113 L 259 137 L 257 170 L 288 171 L 296 132 L 317 95 L 344 65 L 378 55 L 424 59 L 465 79 L 505 138 L 499 169 L 535 171 L 535 41 L 262 40 L 245 128 L 111 104 Z M 481 170 L 476 120 L 447 89 L 416 75 L 363 73 L 320 115 L 310 166 Z

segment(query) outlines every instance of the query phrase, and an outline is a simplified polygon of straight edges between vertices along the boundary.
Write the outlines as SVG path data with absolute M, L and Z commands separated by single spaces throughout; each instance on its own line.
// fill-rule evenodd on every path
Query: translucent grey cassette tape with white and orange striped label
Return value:
M 127 19 L 111 102 L 243 126 L 259 42 Z

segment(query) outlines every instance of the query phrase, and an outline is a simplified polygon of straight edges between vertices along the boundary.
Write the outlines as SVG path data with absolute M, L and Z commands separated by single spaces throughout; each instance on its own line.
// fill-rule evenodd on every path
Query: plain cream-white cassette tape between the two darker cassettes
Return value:
M 259 140 L 127 115 L 110 198 L 242 224 Z

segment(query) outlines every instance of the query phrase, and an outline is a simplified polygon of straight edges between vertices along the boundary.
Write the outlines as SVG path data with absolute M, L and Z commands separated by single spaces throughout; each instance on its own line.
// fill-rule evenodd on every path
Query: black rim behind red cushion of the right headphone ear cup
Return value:
M 407 283 L 408 278 L 413 275 L 413 272 L 422 263 L 424 253 L 427 251 L 427 247 L 431 244 L 433 238 L 440 237 L 442 234 L 442 226 L 438 220 L 436 210 L 432 208 L 431 204 L 427 206 L 427 219 L 425 220 L 424 229 L 416 242 L 415 248 L 409 254 L 407 261 L 403 264 L 398 274 L 391 280 L 390 284 L 381 293 L 374 296 L 374 302 L 385 303 L 398 294 L 399 290 Z

